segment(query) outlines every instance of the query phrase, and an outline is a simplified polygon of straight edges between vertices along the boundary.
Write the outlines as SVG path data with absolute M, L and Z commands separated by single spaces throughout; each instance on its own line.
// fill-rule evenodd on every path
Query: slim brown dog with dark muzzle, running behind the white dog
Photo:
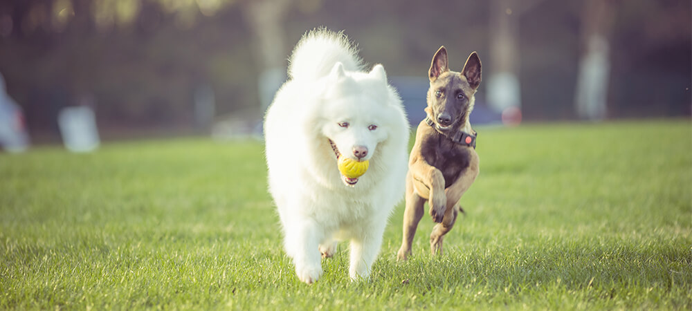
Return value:
M 480 85 L 481 64 L 473 52 L 461 73 L 450 71 L 447 50 L 441 46 L 429 71 L 428 117 L 416 131 L 406 176 L 406 211 L 399 260 L 411 254 L 411 242 L 428 200 L 435 228 L 430 234 L 432 254 L 442 253 L 442 238 L 452 229 L 457 204 L 478 176 L 476 133 L 468 115 L 473 110 L 474 94 Z

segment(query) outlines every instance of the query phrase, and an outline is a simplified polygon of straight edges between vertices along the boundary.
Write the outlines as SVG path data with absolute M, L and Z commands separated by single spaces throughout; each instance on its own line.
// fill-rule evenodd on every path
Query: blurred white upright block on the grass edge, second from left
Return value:
M 89 106 L 72 106 L 60 110 L 57 115 L 62 142 L 72 152 L 89 152 L 98 148 L 100 140 L 96 117 Z

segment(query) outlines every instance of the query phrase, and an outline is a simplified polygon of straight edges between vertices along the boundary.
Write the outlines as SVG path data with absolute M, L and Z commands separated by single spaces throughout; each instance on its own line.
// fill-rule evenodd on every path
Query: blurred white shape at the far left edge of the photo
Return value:
M 8 152 L 26 151 L 29 135 L 26 133 L 24 113 L 7 94 L 5 79 L 0 74 L 0 147 Z

